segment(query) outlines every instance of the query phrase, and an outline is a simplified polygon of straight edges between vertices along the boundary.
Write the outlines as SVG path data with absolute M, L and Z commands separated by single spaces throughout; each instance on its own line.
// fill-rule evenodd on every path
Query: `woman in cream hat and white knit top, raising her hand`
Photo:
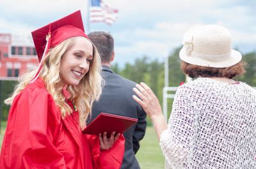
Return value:
M 146 84 L 134 99 L 154 123 L 172 168 L 256 168 L 256 91 L 233 80 L 244 73 L 229 31 L 207 25 L 184 35 L 181 69 L 197 78 L 181 85 L 166 124 L 159 101 Z

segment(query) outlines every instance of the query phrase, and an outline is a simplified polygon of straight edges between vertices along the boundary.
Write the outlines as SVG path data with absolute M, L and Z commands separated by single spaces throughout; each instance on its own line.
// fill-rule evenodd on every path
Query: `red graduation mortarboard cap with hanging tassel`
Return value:
M 40 64 L 35 77 L 33 77 L 30 83 L 33 83 L 36 78 L 38 78 L 38 75 L 42 69 L 42 61 L 44 60 L 45 54 L 49 48 L 56 47 L 62 41 L 75 36 L 83 36 L 88 38 L 88 36 L 84 33 L 83 20 L 80 10 L 32 32 L 32 37 Z

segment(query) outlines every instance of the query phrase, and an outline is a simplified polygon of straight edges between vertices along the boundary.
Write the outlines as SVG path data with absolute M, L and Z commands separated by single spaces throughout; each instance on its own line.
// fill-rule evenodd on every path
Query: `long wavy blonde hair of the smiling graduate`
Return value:
M 60 77 L 60 62 L 62 56 L 72 47 L 76 37 L 69 38 L 54 48 L 51 48 L 45 56 L 42 70 L 40 71 L 40 77 L 44 80 L 47 91 L 51 94 L 56 105 L 60 108 L 61 117 L 65 117 L 67 114 L 72 113 L 72 109 L 65 102 L 65 98 L 62 94 L 63 85 L 61 85 Z M 93 43 L 92 43 L 93 45 Z M 67 90 L 70 92 L 70 99 L 76 105 L 79 112 L 79 124 L 83 129 L 86 126 L 86 119 L 92 112 L 93 101 L 99 99 L 103 80 L 100 75 L 101 64 L 100 55 L 97 52 L 97 48 L 93 45 L 93 60 L 90 63 L 90 69 L 86 75 L 81 79 L 78 85 L 68 85 Z M 32 80 L 36 73 L 36 70 L 31 70 L 28 73 L 22 75 L 19 78 L 19 84 L 16 85 L 15 90 L 10 98 L 5 99 L 4 103 L 12 105 L 13 99 L 22 91 L 26 85 Z

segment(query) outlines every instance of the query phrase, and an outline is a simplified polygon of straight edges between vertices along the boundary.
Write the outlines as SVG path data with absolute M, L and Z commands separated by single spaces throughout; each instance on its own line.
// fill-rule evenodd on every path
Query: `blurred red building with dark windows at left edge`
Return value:
M 14 78 L 38 65 L 31 36 L 0 33 L 0 78 Z

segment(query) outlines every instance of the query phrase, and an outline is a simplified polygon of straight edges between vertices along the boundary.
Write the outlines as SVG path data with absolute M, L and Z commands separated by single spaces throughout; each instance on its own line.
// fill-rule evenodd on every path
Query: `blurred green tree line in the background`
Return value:
M 180 82 L 185 82 L 186 77 L 180 70 L 179 48 L 175 48 L 168 55 L 169 63 L 169 86 L 179 86 Z M 118 56 L 117 56 L 118 57 Z M 163 60 L 163 59 L 162 59 Z M 164 87 L 164 62 L 159 59 L 150 60 L 149 57 L 143 56 L 136 59 L 134 63 L 126 63 L 123 68 L 118 63 L 112 66 L 115 73 L 122 77 L 128 78 L 136 83 L 145 82 L 156 94 L 160 103 L 163 103 L 163 87 Z M 246 84 L 256 87 L 256 52 L 243 54 L 243 60 L 247 62 L 246 73 L 236 80 L 246 82 Z M 17 84 L 15 81 L 3 81 L 1 89 L 1 105 L 3 110 L 2 119 L 5 121 L 8 117 L 9 107 L 4 105 L 3 100 L 8 98 L 13 92 L 13 87 Z M 168 101 L 171 105 L 172 101 Z M 168 111 L 170 113 L 170 111 Z

